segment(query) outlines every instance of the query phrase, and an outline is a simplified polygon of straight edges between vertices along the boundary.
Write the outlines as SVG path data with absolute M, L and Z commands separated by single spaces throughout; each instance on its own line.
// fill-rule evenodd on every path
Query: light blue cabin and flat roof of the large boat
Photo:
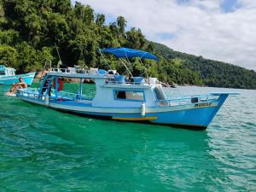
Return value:
M 134 77 L 135 82 L 125 81 L 125 76 L 113 75 L 112 70 L 99 74 L 97 70 L 73 73 L 72 70 L 54 68 L 48 75 L 55 78 L 95 79 L 96 96 L 90 101 L 92 107 L 140 108 L 142 104 L 154 107 L 156 101 L 166 100 L 162 85 L 157 79 L 144 82 L 143 77 Z

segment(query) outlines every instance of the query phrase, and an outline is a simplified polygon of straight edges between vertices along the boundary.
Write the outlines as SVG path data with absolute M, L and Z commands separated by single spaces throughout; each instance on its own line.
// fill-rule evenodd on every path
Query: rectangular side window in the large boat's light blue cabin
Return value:
M 115 99 L 131 100 L 131 101 L 144 101 L 143 91 L 129 91 L 129 90 L 115 90 Z

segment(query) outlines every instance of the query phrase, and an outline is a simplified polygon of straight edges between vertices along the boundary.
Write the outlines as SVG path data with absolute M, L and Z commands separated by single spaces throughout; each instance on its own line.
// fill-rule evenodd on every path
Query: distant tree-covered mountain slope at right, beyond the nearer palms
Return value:
M 164 44 L 154 43 L 156 54 L 166 60 L 181 60 L 181 65 L 199 73 L 202 84 L 214 87 L 256 89 L 256 72 L 221 61 L 213 61 L 185 54 L 168 48 Z

